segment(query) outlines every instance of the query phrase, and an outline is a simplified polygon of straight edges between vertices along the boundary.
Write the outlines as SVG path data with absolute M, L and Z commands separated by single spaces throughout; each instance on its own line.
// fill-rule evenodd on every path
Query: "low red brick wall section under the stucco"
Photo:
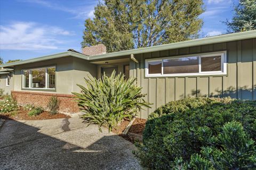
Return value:
M 12 97 L 17 100 L 20 105 L 32 104 L 47 109 L 47 104 L 52 96 L 57 96 L 60 100 L 61 113 L 76 113 L 79 111 L 74 95 L 68 94 L 52 94 L 47 92 L 35 91 L 12 91 Z

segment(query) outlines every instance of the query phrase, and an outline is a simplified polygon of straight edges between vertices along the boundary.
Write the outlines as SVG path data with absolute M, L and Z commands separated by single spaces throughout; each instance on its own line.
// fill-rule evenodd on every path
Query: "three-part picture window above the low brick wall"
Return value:
M 55 67 L 23 70 L 22 87 L 28 89 L 55 89 Z

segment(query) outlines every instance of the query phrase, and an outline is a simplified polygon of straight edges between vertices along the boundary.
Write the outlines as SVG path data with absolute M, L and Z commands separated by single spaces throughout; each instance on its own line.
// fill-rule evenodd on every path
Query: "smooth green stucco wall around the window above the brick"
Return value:
M 54 60 L 47 60 L 44 62 L 36 62 L 14 66 L 14 87 L 12 90 L 22 90 L 21 87 L 23 69 L 31 69 L 35 67 L 51 65 L 56 66 L 56 91 L 54 91 L 53 93 L 70 94 L 71 92 L 79 92 L 79 88 L 76 86 L 77 83 L 85 85 L 83 81 L 84 77 L 95 77 L 97 75 L 96 65 L 90 64 L 88 61 L 83 60 L 81 58 L 62 57 Z

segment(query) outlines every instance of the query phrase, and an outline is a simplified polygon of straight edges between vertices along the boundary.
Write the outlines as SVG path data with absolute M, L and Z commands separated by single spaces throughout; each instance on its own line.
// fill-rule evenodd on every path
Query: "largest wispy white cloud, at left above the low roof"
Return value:
M 63 36 L 73 34 L 59 27 L 35 22 L 15 22 L 10 25 L 0 25 L 0 49 L 59 49 L 59 45 L 64 43 Z

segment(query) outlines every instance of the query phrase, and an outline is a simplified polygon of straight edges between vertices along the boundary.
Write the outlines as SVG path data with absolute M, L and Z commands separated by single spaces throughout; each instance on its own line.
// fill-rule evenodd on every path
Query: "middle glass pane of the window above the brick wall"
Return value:
M 33 69 L 32 73 L 32 88 L 45 88 L 45 68 Z

